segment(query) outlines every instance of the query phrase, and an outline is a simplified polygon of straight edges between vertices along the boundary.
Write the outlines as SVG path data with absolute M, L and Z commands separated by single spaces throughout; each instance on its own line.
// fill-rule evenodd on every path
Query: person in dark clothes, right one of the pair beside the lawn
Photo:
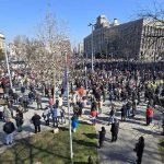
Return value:
M 119 121 L 115 119 L 114 124 L 112 124 L 112 142 L 117 141 L 117 136 L 118 136 L 118 130 L 119 130 Z

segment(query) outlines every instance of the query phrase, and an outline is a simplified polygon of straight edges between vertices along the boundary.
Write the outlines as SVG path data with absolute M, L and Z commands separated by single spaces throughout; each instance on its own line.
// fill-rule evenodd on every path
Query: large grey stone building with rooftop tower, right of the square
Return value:
M 162 60 L 163 35 L 164 27 L 160 23 L 140 19 L 119 24 L 117 19 L 109 22 L 101 15 L 93 33 L 84 38 L 84 52 L 91 56 L 93 48 L 94 55 L 106 54 L 112 58 Z

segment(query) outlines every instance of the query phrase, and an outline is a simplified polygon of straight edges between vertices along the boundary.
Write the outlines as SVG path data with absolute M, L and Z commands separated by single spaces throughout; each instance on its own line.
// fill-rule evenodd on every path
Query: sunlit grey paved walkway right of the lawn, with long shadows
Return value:
M 120 108 L 120 104 L 116 104 L 118 108 Z M 106 128 L 106 141 L 104 143 L 103 149 L 98 149 L 99 153 L 99 163 L 101 164 L 134 164 L 136 161 L 136 152 L 133 152 L 134 145 L 138 142 L 140 136 L 144 137 L 144 152 L 142 157 L 143 164 L 162 164 L 161 155 L 157 150 L 159 139 L 161 136 L 161 127 L 157 125 L 159 113 L 155 114 L 155 120 L 151 126 L 145 126 L 144 118 L 144 106 L 138 106 L 138 114 L 134 119 L 127 119 L 126 122 L 119 124 L 120 129 L 118 133 L 117 142 L 110 142 L 110 126 L 106 126 L 109 112 L 108 107 L 103 108 L 103 113 L 98 117 L 98 121 L 101 120 L 103 125 L 96 125 L 96 131 L 101 130 L 101 127 L 104 126 Z M 119 112 L 117 113 L 117 116 Z M 117 117 L 120 119 L 120 115 Z

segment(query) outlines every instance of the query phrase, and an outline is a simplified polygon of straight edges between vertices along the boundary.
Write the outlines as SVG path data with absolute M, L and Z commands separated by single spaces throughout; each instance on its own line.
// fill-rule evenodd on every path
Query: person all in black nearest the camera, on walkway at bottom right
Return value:
M 142 155 L 143 155 L 143 149 L 144 149 L 144 138 L 140 137 L 139 142 L 136 143 L 134 152 L 137 153 L 137 164 L 142 163 Z

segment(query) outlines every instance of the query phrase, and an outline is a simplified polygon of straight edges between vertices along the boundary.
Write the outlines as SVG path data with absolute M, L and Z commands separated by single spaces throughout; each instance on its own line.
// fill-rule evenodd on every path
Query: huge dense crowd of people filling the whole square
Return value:
M 81 63 L 83 66 L 83 63 Z M 12 70 L 13 87 L 10 87 L 7 77 L 7 70 L 1 68 L 0 96 L 5 101 L 4 106 L 0 106 L 0 119 L 4 121 L 3 131 L 5 132 L 5 144 L 13 143 L 13 132 L 23 130 L 24 113 L 28 113 L 30 107 L 35 102 L 37 104 L 36 112 L 31 118 L 34 125 L 35 133 L 40 132 L 40 119 L 45 120 L 45 126 L 58 128 L 60 124 L 66 124 L 67 102 L 73 110 L 71 116 L 72 131 L 75 132 L 82 117 L 83 109 L 90 107 L 90 118 L 93 126 L 96 119 L 103 113 L 103 105 L 109 101 L 108 124 L 110 125 L 112 142 L 118 139 L 119 124 L 129 118 L 134 118 L 137 106 L 142 103 L 147 104 L 145 125 L 149 126 L 153 120 L 153 113 L 156 105 L 161 106 L 162 127 L 164 134 L 164 110 L 161 99 L 164 97 L 164 72 L 162 70 L 149 68 L 132 67 L 122 63 L 106 65 L 98 62 L 95 65 L 94 72 L 83 67 L 77 67 L 70 72 L 70 93 L 66 99 L 65 80 L 57 84 L 55 91 L 54 85 L 48 82 L 38 81 L 34 78 L 34 72 L 24 69 Z M 156 71 L 157 70 L 157 71 Z M 161 81 L 162 80 L 162 81 Z M 156 81 L 160 81 L 156 83 Z M 15 90 L 16 89 L 16 90 Z M 58 98 L 54 95 L 58 93 Z M 43 97 L 47 98 L 47 104 L 43 106 Z M 118 109 L 115 102 L 121 104 Z M 37 109 L 43 109 L 43 115 L 37 114 Z M 15 115 L 13 114 L 15 110 Z M 116 113 L 120 110 L 121 115 L 118 119 Z M 15 119 L 15 125 L 11 121 Z M 105 127 L 99 131 L 99 148 L 103 148 L 105 140 Z M 138 164 L 142 161 L 144 148 L 144 138 L 141 137 L 136 145 L 134 151 L 138 156 Z

